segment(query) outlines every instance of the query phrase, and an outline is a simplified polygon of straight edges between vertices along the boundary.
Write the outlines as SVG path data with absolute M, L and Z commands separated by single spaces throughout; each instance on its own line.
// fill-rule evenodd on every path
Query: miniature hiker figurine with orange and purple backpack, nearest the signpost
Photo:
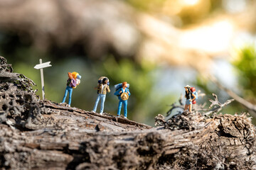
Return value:
M 69 93 L 68 107 L 70 107 L 70 104 L 71 104 L 71 96 L 72 96 L 73 89 L 75 89 L 80 84 L 80 79 L 81 79 L 81 76 L 77 72 L 73 72 L 73 73 L 68 72 L 67 87 L 65 89 L 65 94 L 62 101 L 62 103 L 65 102 L 65 98 Z

